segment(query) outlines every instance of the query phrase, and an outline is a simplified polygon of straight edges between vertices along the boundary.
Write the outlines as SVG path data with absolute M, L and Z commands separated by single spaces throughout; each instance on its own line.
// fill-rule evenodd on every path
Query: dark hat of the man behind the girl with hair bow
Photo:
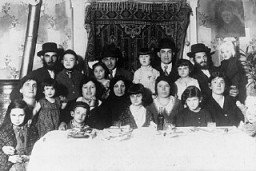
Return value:
M 120 58 L 122 56 L 121 51 L 114 44 L 107 44 L 103 47 L 101 59 L 106 57 Z

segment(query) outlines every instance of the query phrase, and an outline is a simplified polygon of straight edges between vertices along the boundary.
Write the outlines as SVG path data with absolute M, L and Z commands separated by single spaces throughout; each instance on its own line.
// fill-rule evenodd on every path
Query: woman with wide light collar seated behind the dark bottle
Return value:
M 147 106 L 153 114 L 153 121 L 157 124 L 157 115 L 161 111 L 166 122 L 174 123 L 174 117 L 182 109 L 180 101 L 175 96 L 172 96 L 173 83 L 167 76 L 159 76 L 156 79 L 155 92 L 156 98 Z

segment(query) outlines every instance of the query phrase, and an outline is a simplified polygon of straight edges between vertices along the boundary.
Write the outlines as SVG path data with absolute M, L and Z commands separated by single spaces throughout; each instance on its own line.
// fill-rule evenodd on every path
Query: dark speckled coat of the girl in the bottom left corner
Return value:
M 26 125 L 25 125 L 26 127 Z M 38 140 L 38 132 L 34 125 L 30 125 L 27 129 L 26 149 L 25 155 L 30 155 L 35 142 Z M 4 122 L 0 127 L 0 170 L 9 171 L 13 163 L 8 161 L 9 156 L 2 151 L 3 146 L 17 147 L 17 139 L 13 129 L 13 125 L 10 121 Z

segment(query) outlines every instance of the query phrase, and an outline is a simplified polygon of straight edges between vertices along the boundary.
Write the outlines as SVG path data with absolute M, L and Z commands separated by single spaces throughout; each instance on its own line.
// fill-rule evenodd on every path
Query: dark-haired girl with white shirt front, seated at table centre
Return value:
M 128 89 L 131 105 L 121 114 L 121 125 L 130 125 L 131 128 L 140 128 L 150 125 L 151 113 L 143 106 L 144 86 L 133 84 Z

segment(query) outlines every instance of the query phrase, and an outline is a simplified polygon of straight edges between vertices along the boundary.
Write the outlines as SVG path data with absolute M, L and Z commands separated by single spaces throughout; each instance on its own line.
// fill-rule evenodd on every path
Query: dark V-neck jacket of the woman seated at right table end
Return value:
M 206 102 L 205 108 L 210 112 L 216 126 L 238 126 L 244 119 L 242 112 L 236 106 L 235 98 L 231 96 L 225 96 L 223 108 L 211 96 Z

